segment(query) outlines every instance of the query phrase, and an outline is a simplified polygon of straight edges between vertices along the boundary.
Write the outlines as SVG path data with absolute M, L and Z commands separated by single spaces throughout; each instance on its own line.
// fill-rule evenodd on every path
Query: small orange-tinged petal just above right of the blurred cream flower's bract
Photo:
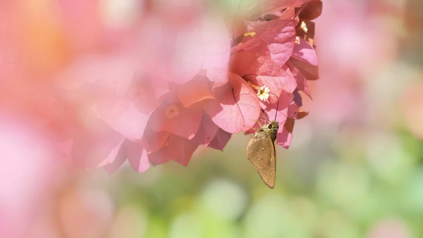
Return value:
M 196 75 L 189 82 L 177 85 L 178 98 L 185 108 L 204 99 L 215 99 L 212 87 L 213 83 L 206 77 Z

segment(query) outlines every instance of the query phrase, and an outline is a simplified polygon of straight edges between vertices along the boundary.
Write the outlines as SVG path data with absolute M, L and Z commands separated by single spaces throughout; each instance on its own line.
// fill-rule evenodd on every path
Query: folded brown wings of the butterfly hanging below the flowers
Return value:
M 257 169 L 263 182 L 273 188 L 276 179 L 276 152 L 269 131 L 258 131 L 247 145 L 245 154 L 251 164 Z

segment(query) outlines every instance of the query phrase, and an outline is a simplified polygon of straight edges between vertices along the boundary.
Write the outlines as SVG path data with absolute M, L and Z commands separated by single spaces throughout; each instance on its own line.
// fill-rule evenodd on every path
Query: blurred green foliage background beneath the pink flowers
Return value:
M 274 189 L 246 160 L 247 136 L 236 135 L 224 153 L 207 149 L 186 168 L 170 162 L 142 175 L 121 170 L 108 190 L 118 210 L 138 208 L 145 237 L 359 238 L 385 220 L 421 237 L 422 142 L 391 131 L 367 151 L 363 134 L 280 149 Z

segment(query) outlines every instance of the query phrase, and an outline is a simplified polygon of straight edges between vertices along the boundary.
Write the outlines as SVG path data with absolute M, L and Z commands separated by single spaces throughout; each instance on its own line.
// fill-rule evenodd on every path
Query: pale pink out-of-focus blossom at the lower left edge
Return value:
M 0 237 L 24 237 L 48 197 L 63 154 L 47 138 L 27 120 L 0 114 Z

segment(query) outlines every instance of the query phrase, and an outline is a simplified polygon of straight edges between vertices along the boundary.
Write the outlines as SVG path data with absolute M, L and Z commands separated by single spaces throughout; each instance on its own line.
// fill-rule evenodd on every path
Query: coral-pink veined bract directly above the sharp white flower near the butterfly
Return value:
M 232 55 L 229 63 L 232 72 L 259 87 L 265 85 L 276 95 L 281 94 L 282 90 L 292 93 L 297 87 L 292 74 L 261 54 L 240 52 Z M 275 97 L 269 97 L 268 100 L 276 103 Z

